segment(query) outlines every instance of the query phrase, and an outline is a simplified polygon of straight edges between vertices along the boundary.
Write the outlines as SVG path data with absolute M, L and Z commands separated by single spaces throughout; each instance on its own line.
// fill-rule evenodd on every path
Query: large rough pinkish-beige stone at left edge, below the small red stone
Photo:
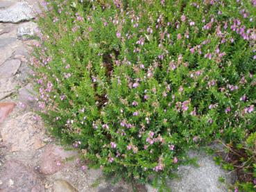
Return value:
M 6 119 L 0 130 L 3 143 L 12 152 L 37 150 L 45 145 L 43 123 L 33 112 Z

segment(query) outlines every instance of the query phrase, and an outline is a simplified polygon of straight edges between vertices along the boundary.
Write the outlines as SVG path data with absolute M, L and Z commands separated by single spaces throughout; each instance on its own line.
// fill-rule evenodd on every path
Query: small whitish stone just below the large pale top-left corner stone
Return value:
M 37 24 L 32 21 L 27 22 L 19 25 L 19 28 L 17 29 L 17 37 L 22 40 L 29 39 L 30 37 L 36 35 L 37 31 Z

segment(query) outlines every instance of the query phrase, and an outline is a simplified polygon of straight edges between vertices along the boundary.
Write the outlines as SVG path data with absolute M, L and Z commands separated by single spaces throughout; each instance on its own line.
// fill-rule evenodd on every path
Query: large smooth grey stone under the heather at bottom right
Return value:
M 222 192 L 228 191 L 225 183 L 219 182 L 223 177 L 225 182 L 232 184 L 235 176 L 217 166 L 209 155 L 204 152 L 189 152 L 189 157 L 197 157 L 199 167 L 180 166 L 178 179 L 169 181 L 169 187 L 174 192 Z M 150 191 L 150 190 L 149 190 Z

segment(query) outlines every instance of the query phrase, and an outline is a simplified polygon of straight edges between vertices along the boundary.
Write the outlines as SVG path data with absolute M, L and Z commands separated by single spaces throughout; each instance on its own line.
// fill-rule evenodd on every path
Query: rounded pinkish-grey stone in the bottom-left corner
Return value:
M 17 160 L 6 162 L 0 174 L 0 191 L 3 192 L 43 192 L 44 187 L 33 169 Z

